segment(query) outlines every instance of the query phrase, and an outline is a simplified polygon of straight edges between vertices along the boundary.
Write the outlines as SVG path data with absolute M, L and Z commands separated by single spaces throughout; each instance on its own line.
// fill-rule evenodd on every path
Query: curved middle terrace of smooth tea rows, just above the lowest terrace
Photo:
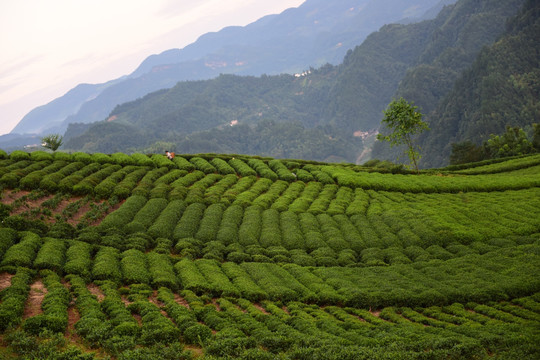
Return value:
M 109 280 L 154 288 L 188 289 L 203 295 L 251 300 L 296 300 L 355 307 L 429 306 L 493 301 L 540 291 L 540 271 L 531 245 L 492 247 L 480 255 L 446 261 L 398 263 L 389 267 L 305 267 L 281 262 L 190 260 L 136 248 L 123 252 L 85 242 L 22 233 L 20 241 L 2 229 L 0 269 L 19 267 L 71 274 L 86 281 Z

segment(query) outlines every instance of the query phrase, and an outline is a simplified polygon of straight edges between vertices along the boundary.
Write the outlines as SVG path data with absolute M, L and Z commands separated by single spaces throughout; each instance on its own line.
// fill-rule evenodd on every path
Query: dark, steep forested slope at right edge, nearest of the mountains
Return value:
M 451 144 L 481 144 L 506 126 L 540 123 L 540 4 L 528 1 L 428 116 L 424 167 L 448 163 Z

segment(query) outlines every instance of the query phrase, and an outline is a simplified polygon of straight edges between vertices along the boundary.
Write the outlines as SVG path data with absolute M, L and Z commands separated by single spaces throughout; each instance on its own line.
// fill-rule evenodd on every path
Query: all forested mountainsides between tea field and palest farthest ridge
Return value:
M 460 0 L 433 20 L 385 25 L 338 66 L 180 82 L 118 105 L 105 121 L 70 125 L 64 148 L 356 162 L 369 145 L 359 132 L 377 130 L 382 110 L 403 96 L 430 124 L 421 165 L 443 166 L 453 143 L 540 122 L 538 8 Z M 372 157 L 398 161 L 399 151 L 376 143 Z

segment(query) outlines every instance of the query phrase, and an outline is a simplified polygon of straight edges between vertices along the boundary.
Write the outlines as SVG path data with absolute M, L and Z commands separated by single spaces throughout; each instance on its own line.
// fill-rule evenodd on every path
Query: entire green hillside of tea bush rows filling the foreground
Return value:
M 2 359 L 540 357 L 540 155 L 0 151 L 0 187 Z

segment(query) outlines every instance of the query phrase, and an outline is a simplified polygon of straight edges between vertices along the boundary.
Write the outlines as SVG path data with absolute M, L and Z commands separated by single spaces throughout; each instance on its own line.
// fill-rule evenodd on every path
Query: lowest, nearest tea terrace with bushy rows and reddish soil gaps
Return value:
M 29 274 L 20 268 L 4 290 L 21 294 L 21 308 L 32 282 Z M 519 346 L 526 356 L 534 349 L 540 319 L 538 294 L 485 305 L 468 302 L 369 311 L 297 301 L 254 303 L 243 298 L 200 297 L 190 290 L 178 294 L 141 284 L 118 288 L 108 280 L 96 287 L 75 275 L 68 276 L 63 285 L 54 273 L 40 275 L 47 291 L 43 313 L 24 320 L 22 314 L 14 315 L 10 324 L 22 321 L 29 332 L 64 332 L 68 307 L 74 306 L 71 311 L 78 312 L 79 320 L 67 330 L 81 336 L 88 346 L 112 354 L 125 355 L 137 345 L 156 343 L 177 344 L 181 351 L 181 340 L 204 346 L 207 355 L 259 359 L 278 354 L 304 359 L 322 356 L 329 349 L 334 358 L 378 358 L 389 353 L 407 358 L 471 358 L 486 353 L 504 356 L 508 344 Z M 74 305 L 69 305 L 71 298 Z M 12 303 L 0 304 L 3 319 Z M 441 338 L 447 340 L 441 342 Z

